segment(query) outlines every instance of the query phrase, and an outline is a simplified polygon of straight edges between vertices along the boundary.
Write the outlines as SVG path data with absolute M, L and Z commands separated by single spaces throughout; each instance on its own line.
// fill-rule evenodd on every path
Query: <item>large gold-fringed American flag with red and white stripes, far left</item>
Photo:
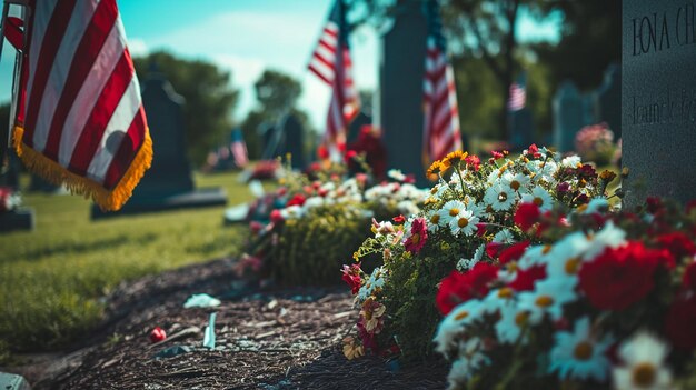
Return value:
M 30 169 L 118 210 L 152 144 L 116 0 L 31 0 L 14 143 Z

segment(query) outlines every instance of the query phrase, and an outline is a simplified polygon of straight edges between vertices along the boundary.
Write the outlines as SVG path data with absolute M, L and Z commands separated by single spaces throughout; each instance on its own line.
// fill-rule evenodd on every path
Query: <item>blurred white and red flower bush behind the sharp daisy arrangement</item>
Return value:
M 370 234 L 370 218 L 417 212 L 427 194 L 398 171 L 375 182 L 369 173 L 340 174 L 346 170 L 336 163 L 309 173 L 285 170 L 275 193 L 252 208 L 252 237 L 238 272 L 281 283 L 332 283 L 339 259 Z

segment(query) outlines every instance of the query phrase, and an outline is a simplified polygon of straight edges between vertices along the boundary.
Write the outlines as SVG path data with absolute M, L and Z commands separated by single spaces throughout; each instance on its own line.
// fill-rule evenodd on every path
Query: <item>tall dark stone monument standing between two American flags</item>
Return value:
M 380 126 L 388 168 L 414 173 L 425 184 L 422 167 L 422 76 L 427 23 L 422 1 L 404 0 L 394 27 L 381 41 Z

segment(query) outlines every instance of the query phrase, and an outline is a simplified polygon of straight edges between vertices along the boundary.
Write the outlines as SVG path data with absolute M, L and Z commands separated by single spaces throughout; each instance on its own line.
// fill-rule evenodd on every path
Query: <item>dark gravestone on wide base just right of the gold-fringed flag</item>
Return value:
M 183 98 L 161 76 L 142 84 L 142 104 L 152 138 L 152 167 L 145 172 L 132 197 L 118 212 L 92 207 L 92 218 L 111 217 L 177 208 L 227 203 L 222 189 L 195 190 L 186 157 L 186 134 L 181 104 Z

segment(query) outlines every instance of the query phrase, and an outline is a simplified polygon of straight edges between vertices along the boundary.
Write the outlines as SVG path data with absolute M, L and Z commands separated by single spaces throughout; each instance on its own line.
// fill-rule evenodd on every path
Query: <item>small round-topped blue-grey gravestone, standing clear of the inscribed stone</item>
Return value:
M 564 81 L 554 96 L 554 146 L 559 152 L 575 149 L 575 134 L 587 124 L 583 97 L 570 81 Z

